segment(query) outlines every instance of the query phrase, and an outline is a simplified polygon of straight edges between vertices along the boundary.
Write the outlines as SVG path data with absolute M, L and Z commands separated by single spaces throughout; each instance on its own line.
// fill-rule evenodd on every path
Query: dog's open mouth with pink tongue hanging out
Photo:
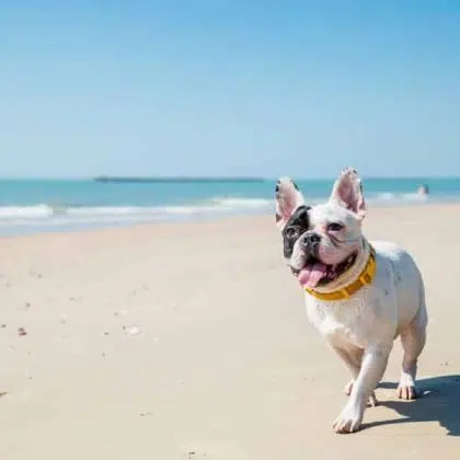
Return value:
M 314 288 L 325 286 L 342 276 L 355 263 L 356 256 L 357 253 L 354 253 L 337 265 L 327 265 L 310 256 L 302 269 L 290 269 L 302 286 Z

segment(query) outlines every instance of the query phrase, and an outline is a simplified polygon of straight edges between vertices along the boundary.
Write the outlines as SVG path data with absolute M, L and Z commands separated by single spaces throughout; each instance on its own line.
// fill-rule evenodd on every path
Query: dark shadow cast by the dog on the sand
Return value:
M 396 411 L 404 418 L 369 423 L 364 428 L 415 422 L 438 422 L 447 436 L 460 436 L 460 376 L 441 376 L 417 380 L 422 396 L 417 401 L 384 401 L 380 404 Z M 379 388 L 395 389 L 381 382 Z

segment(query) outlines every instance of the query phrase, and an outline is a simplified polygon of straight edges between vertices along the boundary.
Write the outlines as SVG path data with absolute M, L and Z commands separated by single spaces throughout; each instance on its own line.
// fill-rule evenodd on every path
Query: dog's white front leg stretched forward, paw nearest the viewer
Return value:
M 371 345 L 365 349 L 361 368 L 353 386 L 349 400 L 334 422 L 335 433 L 353 433 L 359 429 L 366 403 L 387 368 L 391 347 L 392 342 Z

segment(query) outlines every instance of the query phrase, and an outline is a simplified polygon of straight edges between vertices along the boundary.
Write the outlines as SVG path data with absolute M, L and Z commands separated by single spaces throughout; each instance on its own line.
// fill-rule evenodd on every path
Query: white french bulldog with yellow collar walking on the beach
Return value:
M 377 404 L 375 389 L 398 336 L 404 350 L 398 396 L 418 395 L 428 322 L 421 272 L 403 249 L 363 234 L 366 202 L 356 170 L 343 170 L 321 205 L 307 206 L 289 177 L 277 182 L 275 195 L 284 258 L 304 291 L 308 318 L 352 375 L 333 429 L 356 432 L 366 405 Z

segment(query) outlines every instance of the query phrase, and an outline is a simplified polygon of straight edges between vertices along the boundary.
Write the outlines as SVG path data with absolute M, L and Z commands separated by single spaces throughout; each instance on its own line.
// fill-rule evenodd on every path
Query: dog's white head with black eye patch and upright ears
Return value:
M 366 204 L 357 172 L 347 168 L 327 203 L 309 207 L 299 187 L 281 177 L 276 185 L 276 223 L 284 256 L 303 287 L 337 281 L 363 250 Z

